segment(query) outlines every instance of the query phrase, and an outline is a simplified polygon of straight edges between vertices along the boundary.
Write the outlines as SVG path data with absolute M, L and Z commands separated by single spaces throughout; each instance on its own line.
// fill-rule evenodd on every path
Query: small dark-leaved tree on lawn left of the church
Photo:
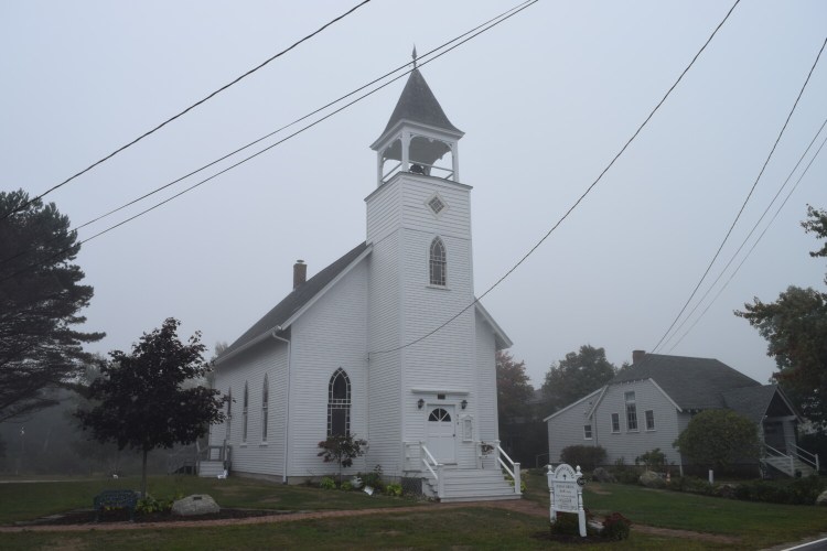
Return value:
M 97 406 L 77 412 L 84 430 L 99 442 L 143 452 L 144 496 L 150 451 L 191 444 L 207 433 L 210 424 L 224 421 L 224 399 L 217 390 L 185 386 L 205 376 L 210 366 L 203 359 L 200 334 L 183 344 L 178 337 L 180 324 L 170 317 L 160 329 L 144 333 L 131 354 L 109 353 L 111 360 L 88 388 Z

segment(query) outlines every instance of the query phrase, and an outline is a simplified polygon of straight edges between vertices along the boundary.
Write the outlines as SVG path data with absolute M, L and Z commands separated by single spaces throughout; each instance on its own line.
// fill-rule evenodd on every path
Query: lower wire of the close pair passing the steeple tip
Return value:
M 470 31 L 470 32 L 473 32 L 473 34 L 470 34 L 470 35 L 469 35 L 469 33 L 465 33 L 464 35 L 468 35 L 468 36 L 466 36 L 466 37 L 465 37 L 464 40 L 462 40 L 462 41 L 458 42 L 457 44 L 452 45 L 452 46 L 451 46 L 451 47 L 449 47 L 449 48 L 445 48 L 444 51 L 440 52 L 439 54 L 436 54 L 436 55 L 433 55 L 433 56 L 432 56 L 432 57 L 431 57 L 430 60 L 427 60 L 427 61 L 423 61 L 423 62 L 419 62 L 419 60 L 418 60 L 418 62 L 419 62 L 419 65 L 427 65 L 428 63 L 431 63 L 431 62 L 433 62 L 433 61 L 438 60 L 439 57 L 441 57 L 441 56 L 445 55 L 447 53 L 451 52 L 452 50 L 454 50 L 454 48 L 457 48 L 457 47 L 461 46 L 462 44 L 466 43 L 468 41 L 470 41 L 470 40 L 472 40 L 472 39 L 474 39 L 474 37 L 479 36 L 480 34 L 484 33 L 485 31 L 488 31 L 488 30 L 493 29 L 494 26 L 496 26 L 496 25 L 498 25 L 500 23 L 502 23 L 502 22 L 506 21 L 507 19 L 509 19 L 509 18 L 512 18 L 512 17 L 516 15 L 516 14 L 517 14 L 517 13 L 519 13 L 520 11 L 525 10 L 525 9 L 526 9 L 526 8 L 528 8 L 529 6 L 533 6 L 533 4 L 537 3 L 538 1 L 539 1 L 539 0 L 528 0 L 528 1 L 526 1 L 526 2 L 523 2 L 522 4 L 518 4 L 518 7 L 517 7 L 517 8 L 513 8 L 512 10 L 508 10 L 508 11 L 504 12 L 504 13 L 505 13 L 505 15 L 503 15 L 503 17 L 497 17 L 497 18 L 494 18 L 493 20 L 490 20 L 490 21 L 494 21 L 494 22 L 493 22 L 493 23 L 491 23 L 490 25 L 487 25 L 487 26 L 484 26 L 484 25 L 485 25 L 485 23 L 483 23 L 483 25 L 479 25 L 479 26 L 476 28 L 476 29 L 479 29 L 479 30 L 477 30 L 476 32 Z M 740 1 L 740 0 L 739 0 L 739 1 Z M 482 29 L 481 29 L 481 26 L 482 26 Z M 454 41 L 455 41 L 455 39 L 454 39 Z M 454 41 L 450 41 L 450 42 L 448 42 L 447 44 L 450 44 L 451 42 L 454 42 Z M 442 46 L 440 46 L 440 47 L 442 47 Z M 434 50 L 433 50 L 433 51 L 431 51 L 431 52 L 436 52 L 437 50 L 439 50 L 439 48 L 434 48 Z M 430 52 L 429 52 L 429 54 L 430 54 Z M 426 55 L 428 55 L 428 54 L 426 54 Z M 407 65 L 407 64 L 406 64 L 406 65 Z M 133 216 L 130 216 L 129 218 L 126 218 L 126 219 L 123 219 L 123 220 L 119 222 L 118 224 L 115 224 L 115 225 L 112 225 L 112 226 L 109 226 L 108 228 L 106 228 L 106 229 L 104 229 L 104 230 L 101 230 L 101 231 L 98 231 L 97 234 L 95 234 L 95 235 L 93 235 L 93 236 L 90 236 L 90 237 L 88 237 L 88 238 L 86 238 L 86 239 L 84 239 L 84 240 L 82 240 L 82 241 L 78 241 L 78 242 L 76 242 L 75 245 L 73 245 L 73 247 L 74 247 L 74 246 L 76 246 L 76 245 L 84 245 L 84 244 L 86 244 L 86 242 L 88 242 L 88 241 L 92 241 L 93 239 L 95 239 L 95 238 L 97 238 L 97 237 L 100 237 L 100 236 L 103 236 L 103 235 L 105 235 L 105 234 L 107 234 L 107 233 L 109 233 L 109 231 L 111 231 L 111 230 L 114 230 L 114 229 L 116 229 L 116 228 L 118 228 L 118 227 L 120 227 L 120 226 L 122 226 L 122 225 L 125 225 L 125 224 L 127 224 L 127 223 L 129 223 L 129 222 L 131 222 L 131 220 L 133 220 L 133 219 L 136 219 L 136 218 L 140 217 L 140 216 L 143 216 L 144 214 L 147 214 L 147 213 L 150 213 L 150 212 L 154 210 L 155 208 L 158 208 L 158 207 L 160 207 L 160 206 L 162 206 L 162 205 L 164 205 L 164 204 L 167 204 L 167 203 L 171 202 L 172 199 L 174 199 L 174 198 L 176 198 L 176 197 L 180 197 L 181 195 L 183 195 L 183 194 L 185 194 L 185 193 L 187 193 L 187 192 L 190 192 L 190 191 L 192 191 L 192 190 L 194 190 L 194 188 L 196 188 L 196 187 L 198 187 L 198 186 L 201 186 L 201 185 L 203 185 L 203 184 L 205 184 L 205 183 L 210 182 L 211 180 L 213 180 L 213 179 L 215 179 L 215 177 L 217 177 L 217 176 L 219 176 L 219 175 L 224 174 L 225 172 L 228 172 L 228 171 L 230 171 L 230 170 L 233 170 L 233 169 L 235 169 L 235 168 L 237 168 L 237 166 L 239 166 L 239 165 L 241 165 L 241 164 L 244 164 L 244 163 L 246 163 L 246 162 L 248 162 L 248 161 L 250 161 L 250 160 L 253 160 L 253 159 L 255 159 L 255 158 L 259 156 L 260 154 L 262 154 L 262 153 L 265 153 L 265 152 L 267 152 L 267 151 L 271 150 L 271 149 L 272 149 L 272 148 L 275 148 L 276 145 L 279 145 L 279 144 L 281 144 L 281 143 L 286 142 L 287 140 L 289 140 L 289 139 L 291 139 L 291 138 L 293 138 L 293 137 L 296 137 L 296 136 L 298 136 L 298 134 L 300 134 L 300 133 L 304 132 L 305 130 L 308 130 L 308 129 L 310 129 L 310 128 L 312 128 L 312 127 L 314 127 L 314 126 L 319 125 L 320 122 L 322 122 L 322 121 L 324 121 L 324 120 L 326 120 L 326 119 L 329 119 L 329 118 L 333 117 L 334 115 L 336 115 L 336 114 L 339 114 L 339 112 L 343 111 L 344 109 L 347 109 L 347 108 L 348 108 L 348 107 L 351 107 L 352 105 L 354 105 L 354 104 L 356 104 L 356 102 L 358 102 L 358 101 L 361 101 L 361 100 L 365 99 L 366 97 L 368 97 L 368 96 L 372 96 L 373 94 L 376 94 L 376 93 L 377 93 L 377 91 L 379 91 L 380 89 L 385 88 L 386 86 L 389 86 L 390 84 L 393 84 L 393 83 L 395 83 L 396 80 L 398 80 L 398 79 L 402 78 L 404 76 L 407 76 L 407 75 L 408 75 L 408 74 L 410 74 L 411 72 L 414 72 L 414 68 L 411 68 L 411 69 L 409 69 L 409 71 L 407 71 L 407 72 L 405 72 L 405 73 L 402 73 L 402 74 L 400 74 L 400 75 L 398 75 L 398 76 L 396 76 L 396 77 L 394 77 L 393 79 L 388 80 L 387 83 L 385 83 L 385 84 L 383 84 L 383 85 L 380 85 L 380 86 L 378 86 L 378 87 L 376 87 L 376 88 L 374 88 L 374 89 L 372 89 L 372 90 L 367 91 L 366 94 L 363 94 L 362 96 L 359 96 L 359 97 L 357 97 L 357 98 L 353 99 L 352 101 L 350 101 L 350 102 L 345 104 L 344 106 L 342 106 L 342 107 L 340 107 L 340 108 L 337 108 L 337 109 L 335 109 L 335 110 L 333 110 L 333 111 L 329 112 L 329 114 L 327 114 L 327 115 L 325 115 L 324 117 L 321 117 L 320 119 L 316 119 L 316 120 L 314 120 L 313 122 L 311 122 L 311 123 L 309 123 L 309 125 L 307 125 L 307 126 L 302 127 L 301 129 L 299 129 L 299 130 L 294 131 L 293 133 L 291 133 L 291 134 L 289 134 L 289 136 L 287 136 L 287 137 L 282 138 L 281 140 L 279 140 L 279 141 L 277 141 L 277 142 L 275 142 L 275 143 L 272 143 L 272 144 L 270 144 L 270 145 L 268 145 L 268 147 L 266 147 L 266 148 L 264 148 L 264 149 L 261 149 L 261 150 L 257 151 L 256 153 L 253 153 L 253 154 L 251 154 L 251 155 L 249 155 L 249 156 L 246 156 L 245 159 L 243 159 L 243 160 L 240 160 L 240 161 L 238 161 L 238 162 L 236 162 L 236 163 L 234 163 L 234 164 L 232 164 L 232 165 L 227 166 L 226 169 L 224 169 L 224 170 L 222 170 L 222 171 L 218 171 L 218 172 L 216 172 L 215 174 L 213 174 L 213 175 L 211 175 L 211 176 L 208 176 L 208 177 L 206 177 L 206 179 L 204 179 L 204 180 L 201 180 L 200 182 L 197 182 L 197 183 L 195 183 L 195 184 L 191 185 L 190 187 L 186 187 L 185 190 L 182 190 L 181 192 L 179 192 L 179 193 L 176 193 L 176 194 L 174 194 L 174 195 L 172 195 L 172 196 L 168 197 L 167 199 L 164 199 L 164 201 L 162 201 L 162 202 L 159 202 L 159 203 L 157 203 L 157 204 L 152 205 L 151 207 L 148 207 L 148 208 L 146 208 L 146 209 L 141 210 L 140 213 L 137 213 L 137 214 L 135 214 Z M 61 251 L 58 251 L 58 252 L 56 252 L 56 253 L 52 255 L 51 257 L 49 257 L 47 259 L 45 259 L 45 261 L 49 261 L 49 260 L 51 260 L 51 259 L 54 259 L 54 258 L 57 258 L 57 257 L 60 257 L 61 255 L 65 253 L 65 252 L 66 252 L 66 251 L 67 251 L 68 249 L 69 249 L 69 248 L 66 248 L 66 249 L 63 249 L 63 250 L 61 250 Z M 33 268 L 36 268 L 37 266 L 41 266 L 42 263 L 43 263 L 43 262 L 36 262 L 36 263 L 30 264 L 30 266 L 28 266 L 28 267 L 25 267 L 25 268 L 21 268 L 20 270 L 15 271 L 15 272 L 13 272 L 13 273 L 11 273 L 11 274 L 9 274 L 8 277 L 6 277 L 6 278 L 3 278 L 3 279 L 0 279 L 0 283 L 2 283 L 2 282 L 4 282 L 4 281 L 8 281 L 8 280 L 10 280 L 10 279 L 12 279 L 12 278 L 15 278 L 17 276 L 20 276 L 21 273 L 24 273 L 24 272 L 26 272 L 26 271 L 29 271 L 29 270 L 31 270 L 31 269 L 33 269 Z

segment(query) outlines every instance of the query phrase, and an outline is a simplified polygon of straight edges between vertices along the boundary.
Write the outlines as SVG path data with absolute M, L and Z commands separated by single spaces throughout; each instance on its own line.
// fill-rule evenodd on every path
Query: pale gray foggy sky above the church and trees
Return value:
M 356 3 L 0 3 L 0 188 L 42 193 Z M 423 54 L 515 4 L 374 0 L 47 199 L 83 224 L 409 62 L 414 44 Z M 544 1 L 421 66 L 465 132 L 459 162 L 462 183 L 473 186 L 477 294 L 594 181 L 730 6 Z M 633 349 L 652 350 L 761 171 L 825 22 L 819 0 L 741 2 L 601 183 L 484 299 L 535 383 L 583 344 L 604 347 L 616 365 Z M 712 279 L 827 117 L 826 64 Z M 77 262 L 95 287 L 84 328 L 108 334 L 93 349 L 129 349 L 168 316 L 183 322 L 182 336 L 202 331 L 211 348 L 233 342 L 290 291 L 297 259 L 312 276 L 363 241 L 364 198 L 376 186 L 368 145 L 404 83 L 84 245 Z M 824 260 L 807 255 L 817 242 L 799 222 L 807 204 L 827 207 L 826 155 L 700 322 L 659 352 L 718 358 L 766 381 L 774 361 L 765 342 L 732 312 L 790 284 L 824 287 Z

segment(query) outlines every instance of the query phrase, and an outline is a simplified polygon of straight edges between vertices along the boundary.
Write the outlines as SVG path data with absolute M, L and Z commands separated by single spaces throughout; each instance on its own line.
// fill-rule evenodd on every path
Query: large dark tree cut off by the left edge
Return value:
M 28 202 L 23 191 L 0 192 L 0 213 Z M 53 406 L 47 390 L 82 372 L 82 345 L 104 337 L 73 328 L 94 292 L 73 263 L 76 239 L 54 203 L 36 199 L 0 220 L 0 421 Z

